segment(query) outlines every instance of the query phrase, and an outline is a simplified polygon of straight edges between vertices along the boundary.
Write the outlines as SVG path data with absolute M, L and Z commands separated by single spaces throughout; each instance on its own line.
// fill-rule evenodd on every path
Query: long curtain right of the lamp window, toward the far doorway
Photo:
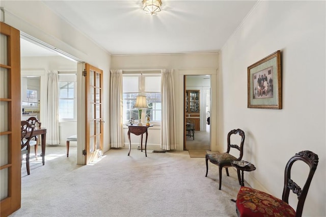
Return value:
M 161 148 L 174 150 L 175 145 L 175 108 L 174 108 L 174 77 L 173 69 L 161 70 Z

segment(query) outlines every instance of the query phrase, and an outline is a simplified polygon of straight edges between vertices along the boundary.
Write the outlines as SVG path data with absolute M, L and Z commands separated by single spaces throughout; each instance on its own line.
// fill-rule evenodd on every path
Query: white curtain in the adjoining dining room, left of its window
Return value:
M 46 144 L 59 145 L 58 71 L 47 73 Z

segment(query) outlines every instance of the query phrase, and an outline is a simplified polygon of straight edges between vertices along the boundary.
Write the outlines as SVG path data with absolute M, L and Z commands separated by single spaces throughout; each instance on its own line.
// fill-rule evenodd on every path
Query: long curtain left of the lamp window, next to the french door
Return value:
M 111 147 L 122 148 L 123 127 L 122 127 L 122 70 L 111 71 Z

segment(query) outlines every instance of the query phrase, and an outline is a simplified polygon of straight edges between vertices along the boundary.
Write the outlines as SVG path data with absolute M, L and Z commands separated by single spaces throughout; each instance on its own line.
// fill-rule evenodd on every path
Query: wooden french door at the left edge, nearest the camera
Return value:
M 20 208 L 20 33 L 0 23 L 0 214 Z

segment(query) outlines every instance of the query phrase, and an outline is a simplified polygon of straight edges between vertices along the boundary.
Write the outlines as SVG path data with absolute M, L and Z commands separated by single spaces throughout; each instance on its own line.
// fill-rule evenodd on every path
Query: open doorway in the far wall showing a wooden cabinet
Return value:
M 184 150 L 210 150 L 210 75 L 184 75 Z

